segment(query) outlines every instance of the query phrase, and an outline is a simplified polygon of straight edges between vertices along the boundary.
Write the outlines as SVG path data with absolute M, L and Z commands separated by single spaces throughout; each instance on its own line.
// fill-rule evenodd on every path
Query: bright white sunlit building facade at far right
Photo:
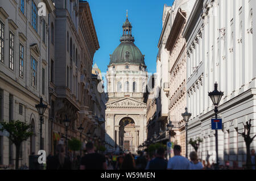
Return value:
M 255 131 L 255 1 L 197 0 L 183 36 L 187 41 L 187 107 L 192 113 L 188 138 L 203 139 L 199 157 L 215 159 L 215 137 L 210 128 L 214 107 L 208 92 L 224 91 L 218 106 L 222 130 L 218 130 L 218 157 L 221 165 L 242 167 L 246 146 L 243 124 L 253 120 Z M 256 141 L 251 144 L 255 149 Z M 188 153 L 192 151 L 189 146 Z M 210 158 L 210 159 L 209 159 Z

